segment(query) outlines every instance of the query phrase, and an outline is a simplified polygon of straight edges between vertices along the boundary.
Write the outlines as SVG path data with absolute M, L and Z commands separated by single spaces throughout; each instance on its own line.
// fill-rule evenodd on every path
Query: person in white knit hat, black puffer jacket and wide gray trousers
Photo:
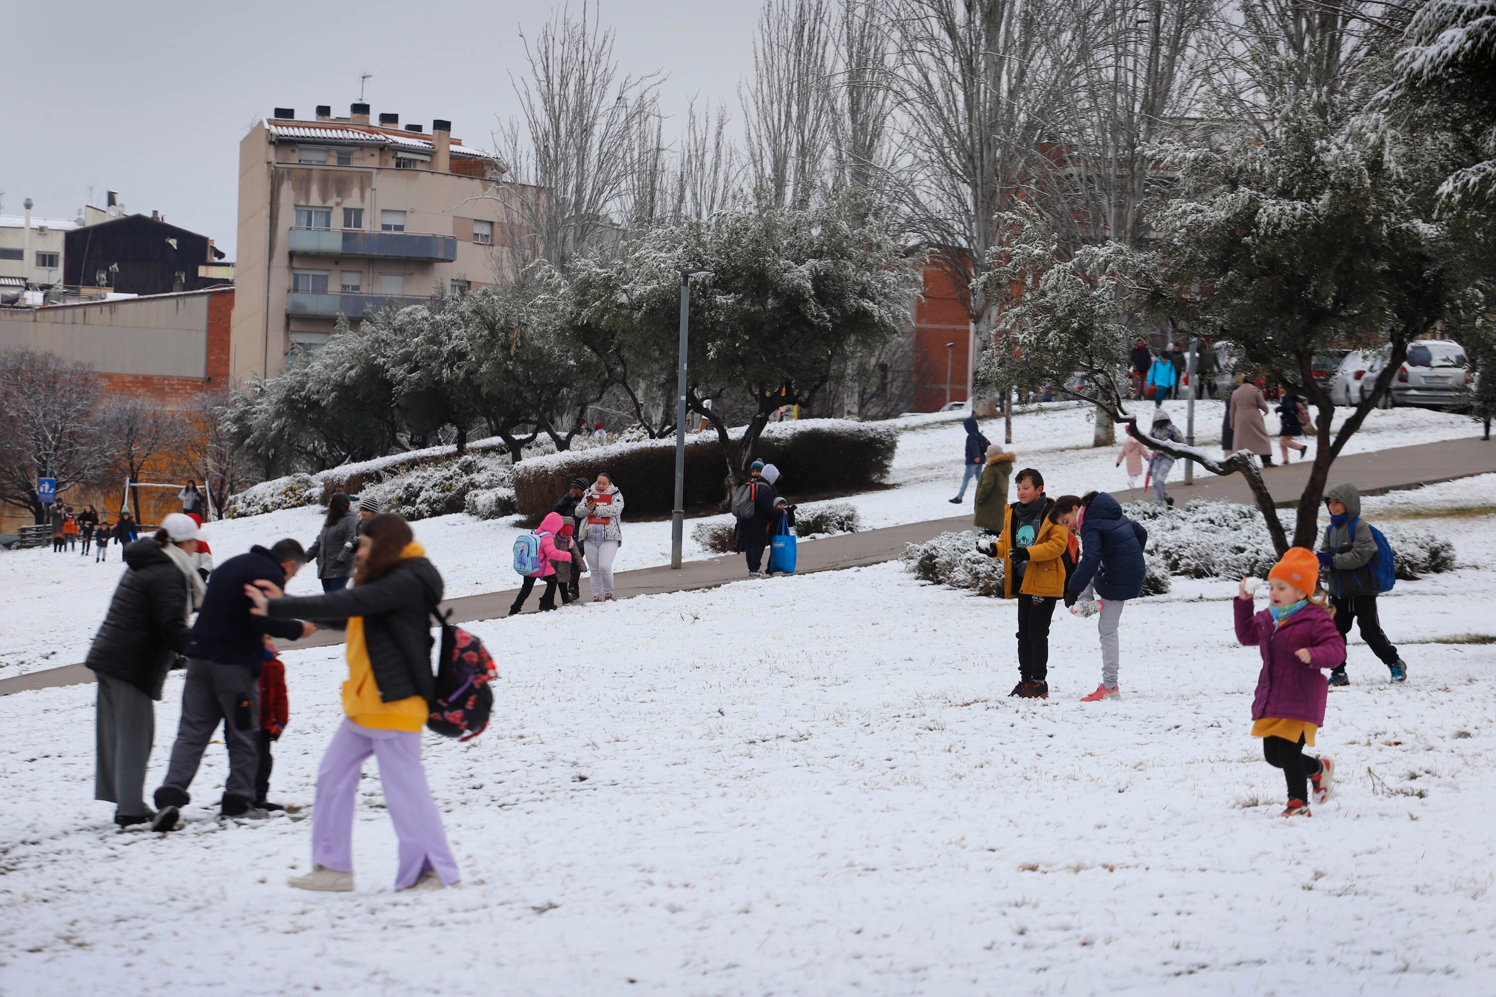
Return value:
M 99 679 L 94 703 L 94 800 L 115 804 L 120 827 L 148 824 L 145 767 L 156 740 L 154 701 L 187 647 L 188 617 L 203 584 L 188 556 L 197 528 L 172 514 L 160 532 L 124 549 L 126 572 L 109 601 L 84 667 Z

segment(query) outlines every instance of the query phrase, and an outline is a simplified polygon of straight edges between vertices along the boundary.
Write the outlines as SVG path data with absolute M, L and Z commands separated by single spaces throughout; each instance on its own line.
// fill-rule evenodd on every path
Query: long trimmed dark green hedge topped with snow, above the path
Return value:
M 742 438 L 742 430 L 735 433 Z M 889 426 L 842 419 L 805 419 L 773 423 L 754 451 L 779 468 L 779 489 L 791 498 L 815 492 L 854 492 L 877 486 L 889 475 L 899 433 Z M 539 519 L 565 495 L 573 478 L 591 481 L 598 472 L 613 475 L 627 502 L 624 516 L 658 516 L 675 505 L 675 439 L 645 439 L 561 451 L 515 465 L 515 499 L 519 511 Z M 726 478 L 717 433 L 685 439 L 685 505 L 700 508 L 723 501 Z

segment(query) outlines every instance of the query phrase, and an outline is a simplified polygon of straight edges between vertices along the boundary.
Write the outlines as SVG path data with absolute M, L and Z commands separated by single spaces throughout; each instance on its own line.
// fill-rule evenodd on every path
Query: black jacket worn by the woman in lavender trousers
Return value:
M 378 697 L 435 700 L 431 671 L 431 607 L 441 601 L 441 574 L 425 558 L 405 558 L 368 584 L 326 595 L 269 601 L 271 616 L 292 616 L 343 628 L 364 617 L 364 641 Z

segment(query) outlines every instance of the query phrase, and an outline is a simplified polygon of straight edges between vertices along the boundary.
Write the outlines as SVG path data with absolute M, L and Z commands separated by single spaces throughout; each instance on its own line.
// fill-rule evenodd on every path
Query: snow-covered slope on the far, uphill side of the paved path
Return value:
M 1152 402 L 1140 405 L 1140 411 L 1150 413 Z M 1182 426 L 1183 404 L 1171 404 L 1170 411 Z M 1201 445 L 1219 444 L 1222 411 L 1221 402 L 1198 404 L 1195 425 Z M 1337 414 L 1343 417 L 1348 411 L 1337 410 Z M 965 442 L 962 417 L 960 413 L 942 413 L 895 420 L 904 432 L 889 475 L 892 487 L 847 499 L 862 511 L 865 528 L 944 519 L 971 510 L 971 490 L 963 507 L 945 501 L 956 495 L 960 481 Z M 1276 417 L 1269 422 L 1276 427 Z M 1345 453 L 1471 436 L 1477 430 L 1469 419 L 1450 413 L 1379 410 L 1352 436 Z M 983 432 L 989 439 L 1001 441 L 1002 422 L 986 422 Z M 1126 475 L 1113 466 L 1116 450 L 1091 448 L 1091 436 L 1089 413 L 1068 402 L 1046 405 L 1013 420 L 1013 450 L 1019 454 L 1019 466 L 1043 469 L 1050 495 L 1126 487 Z M 784 486 L 793 501 L 794 483 L 785 481 Z M 627 484 L 624 493 L 627 496 Z M 720 516 L 690 520 L 685 529 L 685 558 L 714 556 L 691 540 L 694 523 L 729 519 Z M 221 561 L 253 544 L 271 544 L 281 537 L 295 537 L 310 544 L 320 523 L 322 514 L 316 508 L 281 510 L 209 523 L 206 535 L 214 556 Z M 417 540 L 446 577 L 449 596 L 515 586 L 510 547 L 522 531 L 516 520 L 477 520 L 459 513 L 420 520 L 414 528 Z M 628 522 L 625 513 L 624 529 L 625 541 L 616 570 L 669 564 L 669 522 Z M 94 564 L 91 555 L 81 558 L 76 553 L 54 555 L 51 550 L 0 552 L 0 590 L 6 593 L 6 599 L 0 602 L 0 679 L 82 661 L 124 570 L 120 547 L 111 547 L 109 558 L 105 564 Z M 290 590 L 319 592 L 316 571 L 304 571 Z

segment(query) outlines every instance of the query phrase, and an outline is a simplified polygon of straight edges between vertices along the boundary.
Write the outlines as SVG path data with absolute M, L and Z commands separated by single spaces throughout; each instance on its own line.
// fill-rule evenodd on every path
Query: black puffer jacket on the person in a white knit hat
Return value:
M 187 575 L 150 537 L 124 549 L 124 564 L 130 570 L 84 665 L 160 700 L 166 671 L 187 647 Z

